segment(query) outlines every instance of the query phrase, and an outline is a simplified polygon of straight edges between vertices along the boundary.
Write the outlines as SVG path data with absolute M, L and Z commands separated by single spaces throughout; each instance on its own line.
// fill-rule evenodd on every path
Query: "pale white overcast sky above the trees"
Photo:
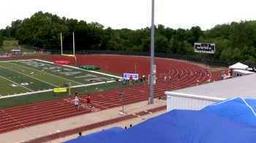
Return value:
M 155 0 L 155 25 L 170 28 L 256 20 L 255 0 Z M 35 12 L 98 22 L 108 28 L 140 29 L 151 26 L 151 0 L 4 0 L 0 2 L 0 28 Z

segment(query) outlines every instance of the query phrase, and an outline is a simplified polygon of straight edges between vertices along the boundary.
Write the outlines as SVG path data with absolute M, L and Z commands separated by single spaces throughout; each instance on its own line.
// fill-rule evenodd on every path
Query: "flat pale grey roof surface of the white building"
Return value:
M 256 98 L 256 74 L 221 80 L 219 82 L 211 82 L 191 88 L 173 90 L 172 92 L 218 98 Z

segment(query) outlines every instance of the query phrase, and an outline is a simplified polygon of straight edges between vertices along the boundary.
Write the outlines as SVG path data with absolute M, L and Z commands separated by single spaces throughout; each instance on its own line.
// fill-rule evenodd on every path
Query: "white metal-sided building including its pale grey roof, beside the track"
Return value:
M 202 109 L 226 98 L 256 98 L 256 74 L 211 82 L 180 90 L 165 91 L 167 111 L 172 109 Z

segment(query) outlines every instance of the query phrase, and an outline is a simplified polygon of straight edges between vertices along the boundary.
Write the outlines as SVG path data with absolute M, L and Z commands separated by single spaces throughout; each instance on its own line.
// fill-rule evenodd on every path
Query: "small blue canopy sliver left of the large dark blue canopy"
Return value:
M 120 127 L 113 127 L 113 128 L 108 128 L 102 131 L 98 131 L 96 133 L 93 134 L 88 134 L 86 136 L 80 136 L 77 139 L 72 139 L 69 140 L 65 143 L 79 143 L 79 142 L 100 142 L 100 139 L 104 139 L 108 136 L 114 136 L 115 134 L 124 131 L 124 128 L 120 128 Z

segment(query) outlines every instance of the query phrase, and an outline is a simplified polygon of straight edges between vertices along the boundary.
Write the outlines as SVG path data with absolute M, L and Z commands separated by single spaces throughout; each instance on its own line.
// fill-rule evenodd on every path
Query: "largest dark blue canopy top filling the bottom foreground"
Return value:
M 101 143 L 255 143 L 256 127 L 208 112 L 175 109 L 117 134 L 94 138 Z

